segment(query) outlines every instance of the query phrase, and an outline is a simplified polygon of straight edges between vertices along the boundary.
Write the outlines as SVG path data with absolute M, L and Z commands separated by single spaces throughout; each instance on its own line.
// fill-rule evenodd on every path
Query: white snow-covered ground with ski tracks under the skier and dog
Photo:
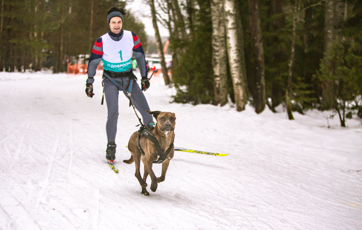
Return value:
M 362 229 L 362 129 L 230 105 L 170 104 L 152 78 L 151 110 L 176 114 L 166 179 L 143 196 L 125 148 L 138 120 L 121 95 L 115 174 L 105 159 L 101 78 L 0 73 L 0 229 Z M 161 165 L 154 165 L 157 176 Z M 141 167 L 143 169 L 143 167 Z M 142 171 L 141 171 L 142 173 Z M 148 178 L 148 185 L 151 184 Z

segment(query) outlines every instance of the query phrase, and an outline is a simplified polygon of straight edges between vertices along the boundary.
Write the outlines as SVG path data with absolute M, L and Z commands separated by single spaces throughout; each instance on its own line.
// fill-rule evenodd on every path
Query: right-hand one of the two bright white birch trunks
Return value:
M 247 83 L 246 76 L 243 73 L 243 67 L 241 66 L 241 44 L 239 43 L 239 39 L 237 36 L 237 30 L 239 30 L 240 28 L 237 27 L 234 0 L 225 0 L 224 9 L 227 53 L 235 95 L 236 110 L 242 111 L 245 109 L 245 105 L 247 103 Z

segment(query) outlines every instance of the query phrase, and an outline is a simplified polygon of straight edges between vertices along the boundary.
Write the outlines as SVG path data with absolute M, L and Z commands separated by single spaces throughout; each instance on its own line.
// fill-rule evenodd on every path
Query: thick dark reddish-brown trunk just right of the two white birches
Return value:
M 265 108 L 266 92 L 265 92 L 265 64 L 263 40 L 261 37 L 259 3 L 258 0 L 249 0 L 250 12 L 250 33 L 253 49 L 254 71 L 255 71 L 255 95 L 254 105 L 255 112 L 261 113 Z

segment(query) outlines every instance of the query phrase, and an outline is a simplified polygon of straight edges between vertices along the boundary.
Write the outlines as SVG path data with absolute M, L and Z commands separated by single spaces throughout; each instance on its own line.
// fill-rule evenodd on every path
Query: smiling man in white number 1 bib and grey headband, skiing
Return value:
M 93 97 L 93 82 L 96 69 L 100 61 L 103 61 L 103 90 L 106 98 L 108 109 L 108 117 L 106 123 L 106 133 L 108 144 L 106 149 L 106 159 L 113 162 L 115 159 L 115 135 L 117 132 L 118 120 L 118 93 L 122 90 L 127 96 L 130 81 L 133 79 L 131 90 L 131 101 L 136 109 L 141 113 L 144 124 L 153 122 L 151 114 L 146 112 L 150 110 L 146 97 L 142 91 L 146 91 L 150 87 L 147 79 L 146 60 L 143 49 L 137 35 L 131 31 L 122 30 L 124 22 L 123 16 L 125 12 L 122 8 L 113 7 L 108 11 L 107 22 L 110 31 L 94 43 L 92 55 L 88 62 L 88 79 L 86 83 L 85 93 L 88 97 Z M 142 91 L 136 84 L 136 77 L 132 72 L 132 53 L 135 55 L 142 80 Z M 122 89 L 119 89 L 105 75 L 109 75 L 114 79 Z

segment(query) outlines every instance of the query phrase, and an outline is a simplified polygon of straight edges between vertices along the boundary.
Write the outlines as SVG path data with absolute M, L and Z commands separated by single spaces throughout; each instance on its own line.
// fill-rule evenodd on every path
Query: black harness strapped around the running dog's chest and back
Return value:
M 168 156 L 168 153 L 171 151 L 171 149 L 173 147 L 173 142 L 174 142 L 175 138 L 173 138 L 172 143 L 170 144 L 168 149 L 166 149 L 166 151 L 163 152 L 157 138 L 153 135 L 153 133 L 148 131 L 149 129 L 154 129 L 154 128 L 150 127 L 149 125 L 147 125 L 147 126 L 142 125 L 140 127 L 140 129 L 138 130 L 138 149 L 144 155 L 144 151 L 141 148 L 140 139 L 141 139 L 141 136 L 146 136 L 146 138 L 151 140 L 151 142 L 155 145 L 155 147 L 157 149 L 157 152 L 158 152 L 158 155 L 159 155 L 159 158 L 157 160 L 153 161 L 152 163 L 160 164 L 160 163 L 162 163 L 163 161 L 166 160 L 166 158 Z

